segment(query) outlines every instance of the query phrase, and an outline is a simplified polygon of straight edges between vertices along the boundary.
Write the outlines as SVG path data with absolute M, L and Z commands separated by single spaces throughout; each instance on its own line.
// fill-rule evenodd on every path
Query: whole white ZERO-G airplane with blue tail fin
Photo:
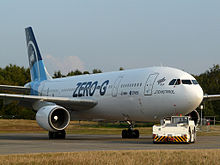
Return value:
M 25 28 L 31 82 L 21 86 L 0 85 L 0 99 L 17 100 L 36 111 L 36 121 L 49 139 L 65 139 L 70 120 L 126 121 L 122 138 L 139 138 L 135 121 L 159 121 L 164 116 L 190 115 L 204 95 L 196 79 L 171 67 L 147 67 L 117 72 L 86 74 L 53 79 L 47 72 L 33 30 Z M 65 64 L 63 64 L 65 65 Z M 28 93 L 28 94 L 27 94 Z

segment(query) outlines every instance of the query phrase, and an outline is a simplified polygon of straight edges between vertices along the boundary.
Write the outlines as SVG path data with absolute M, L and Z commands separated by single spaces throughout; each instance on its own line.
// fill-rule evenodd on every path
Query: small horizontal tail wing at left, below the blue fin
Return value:
M 22 86 L 0 85 L 0 91 L 28 94 L 30 93 L 31 89 Z

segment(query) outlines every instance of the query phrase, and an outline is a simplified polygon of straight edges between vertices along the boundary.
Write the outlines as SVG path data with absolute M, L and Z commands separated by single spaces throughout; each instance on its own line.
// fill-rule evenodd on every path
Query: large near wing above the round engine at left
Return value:
M 0 99 L 6 101 L 21 101 L 26 104 L 33 105 L 37 101 L 55 103 L 71 110 L 90 109 L 97 104 L 97 101 L 91 99 L 79 99 L 68 97 L 51 97 L 51 96 L 35 96 L 35 95 L 17 95 L 17 94 L 0 94 Z

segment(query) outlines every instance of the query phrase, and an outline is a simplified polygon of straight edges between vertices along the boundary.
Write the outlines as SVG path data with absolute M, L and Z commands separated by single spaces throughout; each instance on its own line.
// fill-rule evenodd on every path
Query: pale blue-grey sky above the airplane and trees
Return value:
M 219 0 L 2 0 L 0 67 L 28 67 L 32 26 L 50 74 L 220 63 Z

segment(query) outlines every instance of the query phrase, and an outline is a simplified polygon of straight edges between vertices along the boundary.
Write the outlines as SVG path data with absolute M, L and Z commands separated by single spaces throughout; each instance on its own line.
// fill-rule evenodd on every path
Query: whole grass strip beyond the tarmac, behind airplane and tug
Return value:
M 115 127 L 114 127 L 115 126 Z M 92 121 L 71 121 L 66 131 L 68 134 L 106 134 L 120 135 L 126 125 L 120 123 L 99 123 Z M 152 127 L 138 123 L 141 135 L 151 135 Z M 123 128 L 124 127 L 124 128 Z M 47 133 L 36 120 L 0 119 L 0 133 Z M 220 136 L 220 125 L 202 127 L 197 132 L 198 136 Z

